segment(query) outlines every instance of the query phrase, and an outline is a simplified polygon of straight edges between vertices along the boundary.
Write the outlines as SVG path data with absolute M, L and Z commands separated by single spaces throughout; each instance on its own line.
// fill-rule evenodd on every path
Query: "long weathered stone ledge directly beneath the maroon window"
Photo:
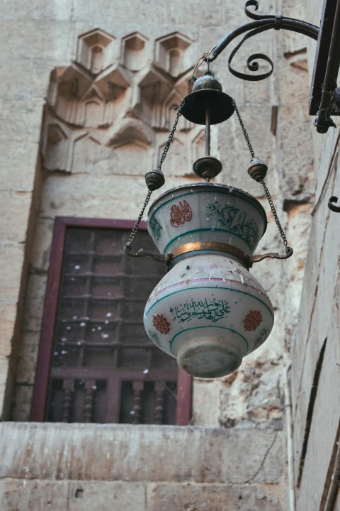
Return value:
M 129 424 L 0 424 L 0 478 L 280 483 L 283 433 Z

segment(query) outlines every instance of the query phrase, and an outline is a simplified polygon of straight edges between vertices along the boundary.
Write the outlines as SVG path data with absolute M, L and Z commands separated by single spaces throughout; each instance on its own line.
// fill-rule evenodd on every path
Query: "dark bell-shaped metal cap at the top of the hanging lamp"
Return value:
M 210 110 L 210 124 L 218 124 L 234 114 L 232 97 L 222 92 L 222 85 L 210 73 L 198 78 L 193 92 L 186 96 L 181 114 L 195 124 L 205 124 Z

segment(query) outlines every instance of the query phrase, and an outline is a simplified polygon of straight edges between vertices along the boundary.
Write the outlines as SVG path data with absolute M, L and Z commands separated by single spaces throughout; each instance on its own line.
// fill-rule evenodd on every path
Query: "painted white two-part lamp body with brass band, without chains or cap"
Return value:
M 148 230 L 169 273 L 145 307 L 149 338 L 181 368 L 217 378 L 239 368 L 273 328 L 273 307 L 247 269 L 266 231 L 266 213 L 246 192 L 199 182 L 162 194 Z

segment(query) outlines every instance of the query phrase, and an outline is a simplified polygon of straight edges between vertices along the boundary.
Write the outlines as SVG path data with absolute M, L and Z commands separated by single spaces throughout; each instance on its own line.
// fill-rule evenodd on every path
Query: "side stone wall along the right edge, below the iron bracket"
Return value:
M 319 2 L 309 2 L 306 11 L 318 24 Z M 313 59 L 310 48 L 311 70 Z M 337 118 L 334 121 L 339 125 Z M 334 480 L 340 433 L 340 244 L 339 218 L 327 202 L 331 195 L 339 195 L 339 129 L 330 128 L 325 136 L 315 133 L 313 138 L 316 192 L 291 368 L 294 477 L 297 510 L 336 511 L 340 509 Z

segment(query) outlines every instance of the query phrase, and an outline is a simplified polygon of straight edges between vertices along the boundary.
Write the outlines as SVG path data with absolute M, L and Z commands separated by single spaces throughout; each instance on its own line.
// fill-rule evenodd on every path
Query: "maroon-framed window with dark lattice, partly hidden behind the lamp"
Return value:
M 125 255 L 132 225 L 57 217 L 32 420 L 188 424 L 191 378 L 142 322 L 165 268 Z M 156 251 L 145 225 L 137 243 Z

